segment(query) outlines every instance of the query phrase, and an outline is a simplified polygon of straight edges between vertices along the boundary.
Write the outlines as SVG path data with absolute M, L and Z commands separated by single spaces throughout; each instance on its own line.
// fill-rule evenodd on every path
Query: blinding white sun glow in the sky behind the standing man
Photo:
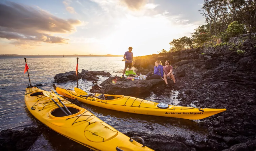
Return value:
M 175 25 L 175 22 L 164 14 L 143 17 L 126 15 L 103 43 L 107 50 L 126 51 L 131 46 L 134 56 L 149 55 L 162 49 L 169 50 L 169 42 L 181 34 L 189 34 L 191 26 L 195 25 Z

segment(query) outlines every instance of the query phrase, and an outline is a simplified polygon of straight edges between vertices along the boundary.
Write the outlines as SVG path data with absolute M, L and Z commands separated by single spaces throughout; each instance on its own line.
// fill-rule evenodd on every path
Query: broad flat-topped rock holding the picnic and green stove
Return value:
M 170 85 L 174 85 L 168 80 Z M 99 85 L 94 85 L 90 92 L 115 95 L 134 95 L 142 94 L 150 90 L 164 90 L 165 83 L 163 79 L 134 80 L 119 78 L 117 76 L 106 79 Z

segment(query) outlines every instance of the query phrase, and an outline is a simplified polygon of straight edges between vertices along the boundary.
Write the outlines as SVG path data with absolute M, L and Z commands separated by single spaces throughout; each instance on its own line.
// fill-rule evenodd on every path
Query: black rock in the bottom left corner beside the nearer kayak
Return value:
M 0 132 L 0 150 L 26 150 L 42 133 L 39 127 L 25 127 L 24 130 L 2 130 Z

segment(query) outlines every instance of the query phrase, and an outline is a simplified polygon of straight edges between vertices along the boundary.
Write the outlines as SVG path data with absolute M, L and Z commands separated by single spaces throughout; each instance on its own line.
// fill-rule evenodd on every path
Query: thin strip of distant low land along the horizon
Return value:
M 64 57 L 122 57 L 123 55 L 64 55 Z M 23 54 L 0 54 L 0 57 L 63 57 L 63 55 L 23 55 Z

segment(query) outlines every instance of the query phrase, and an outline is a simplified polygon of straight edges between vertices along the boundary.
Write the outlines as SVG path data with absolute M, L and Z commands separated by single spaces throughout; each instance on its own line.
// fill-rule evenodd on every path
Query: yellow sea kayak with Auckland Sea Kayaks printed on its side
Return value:
M 101 94 L 91 93 L 91 95 L 94 95 L 95 97 L 81 96 L 77 94 L 75 91 L 65 89 L 64 87 L 55 84 L 54 89 L 58 94 L 62 96 L 71 99 L 77 99 L 78 101 L 83 103 L 91 104 L 106 109 L 136 114 L 199 120 L 226 111 L 226 109 L 208 109 L 175 106 L 123 95 L 104 94 L 105 100 L 102 100 L 95 98 L 100 96 Z

